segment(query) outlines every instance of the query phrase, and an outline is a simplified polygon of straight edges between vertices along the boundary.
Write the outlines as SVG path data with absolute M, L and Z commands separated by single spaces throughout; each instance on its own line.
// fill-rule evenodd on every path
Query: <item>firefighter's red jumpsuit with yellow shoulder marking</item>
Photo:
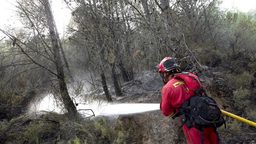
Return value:
M 193 76 L 197 78 L 197 76 Z M 189 88 L 183 80 L 176 78 L 169 80 L 162 89 L 160 104 L 162 113 L 171 117 L 178 112 L 181 104 L 192 97 L 188 90 Z M 213 128 L 202 128 L 202 130 L 204 130 L 204 144 L 218 144 Z M 188 144 L 201 144 L 201 132 L 196 127 L 188 129 L 186 125 L 183 125 L 183 131 Z

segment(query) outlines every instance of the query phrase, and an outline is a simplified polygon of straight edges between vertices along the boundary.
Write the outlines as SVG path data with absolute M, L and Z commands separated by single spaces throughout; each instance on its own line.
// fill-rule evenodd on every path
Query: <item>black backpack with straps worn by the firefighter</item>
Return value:
M 194 76 L 189 75 L 187 72 L 177 73 L 176 75 L 186 75 L 190 76 L 194 82 L 199 83 L 199 89 L 194 90 L 195 95 L 185 101 L 179 108 L 179 112 L 176 113 L 172 118 L 180 117 L 182 124 L 186 125 L 188 129 L 196 127 L 201 131 L 202 144 L 204 144 L 204 131 L 201 130 L 203 127 L 213 127 L 214 132 L 217 134 L 218 143 L 219 137 L 216 131 L 217 127 L 225 125 L 225 120 L 221 116 L 221 111 L 218 107 L 216 101 L 209 97 L 204 88 L 201 86 L 199 80 L 194 78 Z

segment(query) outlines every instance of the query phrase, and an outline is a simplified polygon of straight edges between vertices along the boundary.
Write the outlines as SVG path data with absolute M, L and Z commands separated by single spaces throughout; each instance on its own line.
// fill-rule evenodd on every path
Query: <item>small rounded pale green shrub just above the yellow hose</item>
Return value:
M 245 105 L 249 104 L 249 100 L 247 100 L 248 96 L 251 94 L 249 90 L 240 87 L 238 90 L 235 90 L 233 94 L 235 98 L 235 106 L 239 109 L 242 109 Z

